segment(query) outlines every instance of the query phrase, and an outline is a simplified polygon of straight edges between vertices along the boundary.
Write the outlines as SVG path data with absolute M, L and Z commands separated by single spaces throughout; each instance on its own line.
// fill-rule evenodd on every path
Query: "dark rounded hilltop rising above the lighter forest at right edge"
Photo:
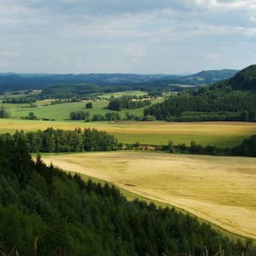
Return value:
M 256 90 L 256 64 L 248 66 L 232 77 L 229 85 L 235 90 Z

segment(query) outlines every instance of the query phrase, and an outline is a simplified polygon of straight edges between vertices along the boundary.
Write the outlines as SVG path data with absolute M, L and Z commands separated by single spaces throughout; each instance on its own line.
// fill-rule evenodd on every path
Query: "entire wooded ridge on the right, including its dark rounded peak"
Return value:
M 205 86 L 198 91 L 181 92 L 144 109 L 167 121 L 256 121 L 256 65 L 230 80 Z

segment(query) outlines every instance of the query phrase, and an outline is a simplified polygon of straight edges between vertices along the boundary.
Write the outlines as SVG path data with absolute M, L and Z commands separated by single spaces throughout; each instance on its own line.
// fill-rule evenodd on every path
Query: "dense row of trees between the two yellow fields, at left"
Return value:
M 109 151 L 119 147 L 114 136 L 106 131 L 96 129 L 75 129 L 75 131 L 54 130 L 47 128 L 46 131 L 31 131 L 24 133 L 16 131 L 13 136 L 14 141 L 22 139 L 26 142 L 30 152 L 81 152 L 81 151 Z

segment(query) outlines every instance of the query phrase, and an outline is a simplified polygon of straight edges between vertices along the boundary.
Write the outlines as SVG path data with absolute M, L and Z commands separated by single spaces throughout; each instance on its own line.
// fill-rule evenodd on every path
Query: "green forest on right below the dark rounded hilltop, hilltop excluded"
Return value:
M 157 120 L 196 121 L 256 121 L 256 95 L 248 92 L 230 92 L 219 95 L 199 93 L 170 97 L 164 103 L 144 109 L 144 115 Z

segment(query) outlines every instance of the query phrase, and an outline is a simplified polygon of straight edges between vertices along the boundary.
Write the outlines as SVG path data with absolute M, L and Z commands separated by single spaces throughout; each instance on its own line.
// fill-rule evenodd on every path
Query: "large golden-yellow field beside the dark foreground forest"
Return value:
M 256 239 L 255 158 L 112 152 L 43 159 Z

